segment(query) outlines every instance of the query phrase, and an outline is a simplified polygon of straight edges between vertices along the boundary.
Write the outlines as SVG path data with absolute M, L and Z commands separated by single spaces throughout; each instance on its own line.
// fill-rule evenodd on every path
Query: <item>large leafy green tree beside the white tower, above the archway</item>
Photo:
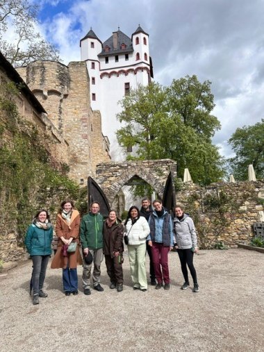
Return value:
M 122 112 L 117 115 L 124 123 L 117 131 L 119 144 L 135 146 L 136 156 L 128 158 L 170 158 L 177 162 L 179 177 L 188 167 L 196 183 L 219 181 L 224 160 L 211 142 L 220 122 L 211 115 L 215 104 L 210 85 L 186 76 L 170 87 L 151 83 L 131 90 L 120 102 Z

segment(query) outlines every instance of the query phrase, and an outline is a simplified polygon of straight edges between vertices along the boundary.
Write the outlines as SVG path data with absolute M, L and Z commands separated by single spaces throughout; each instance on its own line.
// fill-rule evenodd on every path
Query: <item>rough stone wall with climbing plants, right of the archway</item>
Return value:
M 220 208 L 208 204 L 224 195 Z M 176 203 L 195 219 L 200 246 L 210 249 L 223 242 L 236 247 L 249 244 L 254 237 L 253 223 L 263 221 L 264 180 L 256 182 L 214 183 L 199 187 L 183 184 L 176 192 Z

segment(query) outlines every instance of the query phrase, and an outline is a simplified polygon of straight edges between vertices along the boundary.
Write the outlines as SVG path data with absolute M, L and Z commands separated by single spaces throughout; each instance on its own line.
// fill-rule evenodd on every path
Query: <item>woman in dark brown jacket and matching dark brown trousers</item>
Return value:
M 104 257 L 106 258 L 107 274 L 110 277 L 110 288 L 117 287 L 117 292 L 123 290 L 123 237 L 124 226 L 117 221 L 117 213 L 110 210 L 104 221 Z

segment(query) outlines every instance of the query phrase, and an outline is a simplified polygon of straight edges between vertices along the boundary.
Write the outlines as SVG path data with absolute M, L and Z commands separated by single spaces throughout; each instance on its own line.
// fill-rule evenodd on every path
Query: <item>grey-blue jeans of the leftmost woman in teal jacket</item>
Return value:
M 38 294 L 42 289 L 46 276 L 46 270 L 50 255 L 32 255 L 33 271 L 31 283 L 33 287 L 33 294 Z

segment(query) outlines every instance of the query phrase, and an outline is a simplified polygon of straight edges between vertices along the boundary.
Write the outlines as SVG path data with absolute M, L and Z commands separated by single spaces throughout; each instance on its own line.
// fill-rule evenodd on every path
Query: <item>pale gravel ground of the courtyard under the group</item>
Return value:
M 49 296 L 32 304 L 31 261 L 0 280 L 0 351 L 264 351 L 264 255 L 245 249 L 200 251 L 200 292 L 180 290 L 177 253 L 170 253 L 171 289 L 133 291 L 124 253 L 124 291 L 101 285 L 85 296 L 62 292 L 60 269 L 47 270 Z M 147 268 L 148 265 L 147 258 Z

